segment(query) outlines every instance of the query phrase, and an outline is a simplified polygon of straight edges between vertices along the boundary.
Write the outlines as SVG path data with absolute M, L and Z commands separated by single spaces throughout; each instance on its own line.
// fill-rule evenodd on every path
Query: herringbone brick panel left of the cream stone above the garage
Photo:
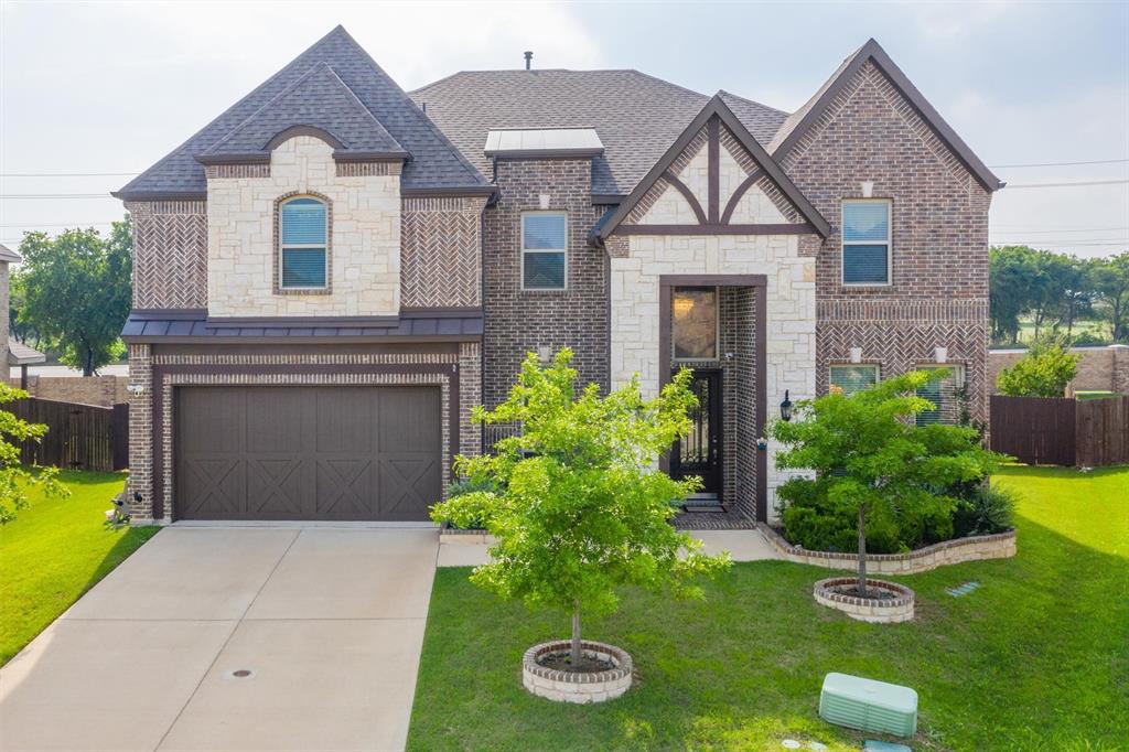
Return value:
M 125 208 L 133 218 L 133 307 L 207 307 L 204 202 L 131 202 Z

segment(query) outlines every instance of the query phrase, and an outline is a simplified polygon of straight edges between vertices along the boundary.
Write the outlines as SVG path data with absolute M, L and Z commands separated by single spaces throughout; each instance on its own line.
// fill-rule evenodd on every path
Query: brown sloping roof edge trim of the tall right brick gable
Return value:
M 918 90 L 916 86 L 905 77 L 905 73 L 894 64 L 894 61 L 890 59 L 886 51 L 882 49 L 876 41 L 873 38 L 867 41 L 861 47 L 855 51 L 854 54 L 847 58 L 841 65 L 831 75 L 823 86 L 815 93 L 815 95 L 808 99 L 803 107 L 797 110 L 795 113 L 789 115 L 788 120 L 784 123 L 780 130 L 777 132 L 772 142 L 769 145 L 769 151 L 776 159 L 782 159 L 799 140 L 807 132 L 807 129 L 819 121 L 820 116 L 826 110 L 828 105 L 835 98 L 839 90 L 846 86 L 859 69 L 867 63 L 867 61 L 873 61 L 877 65 L 890 82 L 893 84 L 894 88 L 901 93 L 903 97 L 912 105 L 917 113 L 922 120 L 934 130 L 937 137 L 948 147 L 948 149 L 956 155 L 956 157 L 964 164 L 964 166 L 971 172 L 975 178 L 984 186 L 988 191 L 997 191 L 1004 187 L 1004 182 L 1000 181 L 982 161 L 977 157 L 972 149 L 969 148 L 960 135 L 956 134 L 945 119 L 934 110 L 933 105 L 926 100 L 925 96 Z

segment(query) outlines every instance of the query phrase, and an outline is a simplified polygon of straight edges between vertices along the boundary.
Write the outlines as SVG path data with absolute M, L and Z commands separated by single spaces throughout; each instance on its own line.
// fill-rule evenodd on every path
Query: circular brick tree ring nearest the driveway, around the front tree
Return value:
M 557 640 L 534 645 L 526 650 L 522 658 L 522 683 L 525 689 L 557 702 L 584 705 L 614 700 L 631 687 L 631 655 L 614 645 L 587 640 L 580 642 L 585 657 L 612 664 L 607 671 L 557 671 L 541 665 L 540 661 L 544 657 L 568 654 L 571 647 L 572 644 L 568 640 Z

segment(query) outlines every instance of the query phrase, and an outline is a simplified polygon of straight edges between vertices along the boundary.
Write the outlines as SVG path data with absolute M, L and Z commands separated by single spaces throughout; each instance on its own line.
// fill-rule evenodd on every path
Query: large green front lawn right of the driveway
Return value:
M 412 750 L 762 750 L 784 738 L 857 750 L 864 738 L 816 716 L 830 671 L 908 684 L 920 694 L 916 749 L 1114 750 L 1129 728 L 1129 467 L 1078 473 L 1007 467 L 1024 495 L 1014 559 L 895 578 L 918 595 L 916 621 L 872 626 L 816 605 L 826 570 L 752 562 L 708 588 L 706 604 L 628 592 L 586 635 L 627 648 L 636 687 L 601 706 L 522 688 L 530 645 L 566 635 L 436 576 Z M 979 580 L 954 598 L 946 587 Z

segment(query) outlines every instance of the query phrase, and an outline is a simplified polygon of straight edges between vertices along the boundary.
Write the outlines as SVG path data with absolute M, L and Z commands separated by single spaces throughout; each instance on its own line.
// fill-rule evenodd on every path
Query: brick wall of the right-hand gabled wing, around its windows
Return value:
M 832 225 L 816 256 L 820 393 L 851 348 L 887 377 L 934 362 L 945 347 L 964 367 L 973 418 L 987 422 L 990 193 L 873 62 L 781 166 Z M 863 198 L 864 181 L 892 202 L 891 285 L 843 287 L 840 202 Z

